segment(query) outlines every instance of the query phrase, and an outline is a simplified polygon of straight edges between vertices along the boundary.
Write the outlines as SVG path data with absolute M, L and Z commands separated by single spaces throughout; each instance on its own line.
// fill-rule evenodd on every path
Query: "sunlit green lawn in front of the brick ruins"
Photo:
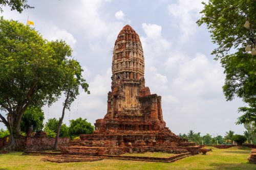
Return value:
M 42 156 L 24 156 L 21 155 L 21 152 L 13 152 L 0 154 L 0 169 L 256 169 L 255 164 L 247 163 L 250 153 L 248 148 L 211 149 L 212 152 L 208 152 L 207 155 L 190 156 L 173 163 L 113 159 L 94 162 L 52 163 L 41 161 Z

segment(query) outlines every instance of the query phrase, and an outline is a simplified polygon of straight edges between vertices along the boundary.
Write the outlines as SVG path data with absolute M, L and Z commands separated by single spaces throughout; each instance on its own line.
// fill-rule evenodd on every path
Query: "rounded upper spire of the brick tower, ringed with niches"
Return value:
M 126 25 L 120 31 L 113 51 L 112 73 L 124 79 L 139 79 L 144 76 L 144 56 L 139 35 Z

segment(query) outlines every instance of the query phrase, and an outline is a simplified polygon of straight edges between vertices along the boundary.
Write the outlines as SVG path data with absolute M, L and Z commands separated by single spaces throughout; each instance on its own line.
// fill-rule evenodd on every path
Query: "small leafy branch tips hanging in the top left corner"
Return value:
M 27 0 L 0 0 L 0 12 L 3 12 L 2 6 L 10 6 L 11 10 L 22 13 L 24 9 L 34 8 L 27 4 Z

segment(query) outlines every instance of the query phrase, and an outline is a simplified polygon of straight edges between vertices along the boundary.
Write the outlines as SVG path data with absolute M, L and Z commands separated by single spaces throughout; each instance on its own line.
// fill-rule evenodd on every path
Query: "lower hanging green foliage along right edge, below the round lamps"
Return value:
M 256 59 L 244 53 L 243 48 L 235 54 L 221 59 L 226 74 L 223 92 L 227 101 L 235 96 L 242 98 L 249 107 L 240 107 L 244 114 L 238 118 L 237 124 L 256 122 Z

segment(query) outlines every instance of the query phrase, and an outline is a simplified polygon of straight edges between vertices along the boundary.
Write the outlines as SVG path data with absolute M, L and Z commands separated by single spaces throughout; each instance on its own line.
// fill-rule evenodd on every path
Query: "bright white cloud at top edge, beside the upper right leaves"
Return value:
M 180 43 L 187 42 L 189 37 L 196 32 L 196 20 L 199 12 L 203 9 L 202 1 L 179 0 L 177 4 L 168 5 L 168 13 L 175 17 L 173 25 L 178 25 L 180 29 Z

